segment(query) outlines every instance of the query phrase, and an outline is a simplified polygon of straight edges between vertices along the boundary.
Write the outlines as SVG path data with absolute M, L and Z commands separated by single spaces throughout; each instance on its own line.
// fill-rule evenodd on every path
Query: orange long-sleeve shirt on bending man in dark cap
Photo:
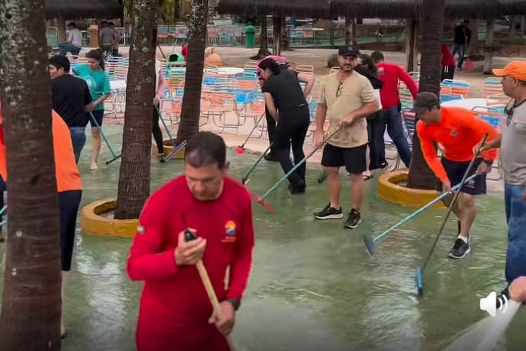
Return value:
M 416 123 L 416 132 L 420 138 L 422 153 L 435 175 L 442 182 L 447 180 L 447 174 L 442 163 L 436 157 L 433 143 L 440 143 L 444 147 L 444 157 L 452 161 L 469 161 L 475 154 L 475 147 L 479 145 L 488 133 L 488 141 L 499 136 L 497 130 L 479 119 L 473 112 L 465 108 L 440 108 L 442 119 L 438 124 Z M 497 150 L 490 149 L 480 153 L 485 160 L 494 160 Z

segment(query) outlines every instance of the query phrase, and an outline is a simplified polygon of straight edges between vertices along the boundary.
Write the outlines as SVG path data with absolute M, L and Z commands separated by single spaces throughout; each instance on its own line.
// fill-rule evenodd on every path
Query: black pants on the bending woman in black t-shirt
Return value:
M 305 142 L 309 124 L 310 117 L 307 104 L 279 114 L 279 123 L 276 125 L 274 134 L 274 152 L 285 173 L 288 173 L 294 167 L 290 161 L 290 145 L 292 145 L 295 165 L 305 158 L 303 143 Z M 303 165 L 288 176 L 288 181 L 294 189 L 305 189 L 306 170 L 306 162 L 303 162 Z

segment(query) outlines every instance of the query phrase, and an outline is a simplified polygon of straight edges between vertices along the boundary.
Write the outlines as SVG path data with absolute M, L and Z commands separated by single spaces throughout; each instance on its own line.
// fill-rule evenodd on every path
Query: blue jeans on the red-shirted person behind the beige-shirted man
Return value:
M 405 135 L 402 117 L 398 106 L 392 107 L 389 110 L 384 110 L 381 114 L 381 122 L 380 134 L 382 138 L 387 126 L 387 132 L 392 142 L 395 143 L 402 162 L 405 164 L 405 167 L 409 168 L 411 162 L 411 148 L 409 147 L 408 138 Z

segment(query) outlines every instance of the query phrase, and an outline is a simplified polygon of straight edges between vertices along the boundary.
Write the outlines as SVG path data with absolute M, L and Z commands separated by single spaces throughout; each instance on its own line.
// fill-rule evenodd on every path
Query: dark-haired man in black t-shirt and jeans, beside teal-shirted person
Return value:
M 49 59 L 51 75 L 51 94 L 55 110 L 71 132 L 75 161 L 79 162 L 80 153 L 86 144 L 86 124 L 90 119 L 88 112 L 93 108 L 88 84 L 80 78 L 70 75 L 68 58 L 56 55 Z

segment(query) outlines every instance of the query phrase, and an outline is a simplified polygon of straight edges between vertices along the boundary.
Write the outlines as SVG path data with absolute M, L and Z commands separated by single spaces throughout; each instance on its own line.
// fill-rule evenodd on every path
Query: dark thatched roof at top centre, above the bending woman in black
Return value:
M 281 14 L 285 16 L 327 17 L 330 0 L 220 0 L 218 12 L 240 16 Z

